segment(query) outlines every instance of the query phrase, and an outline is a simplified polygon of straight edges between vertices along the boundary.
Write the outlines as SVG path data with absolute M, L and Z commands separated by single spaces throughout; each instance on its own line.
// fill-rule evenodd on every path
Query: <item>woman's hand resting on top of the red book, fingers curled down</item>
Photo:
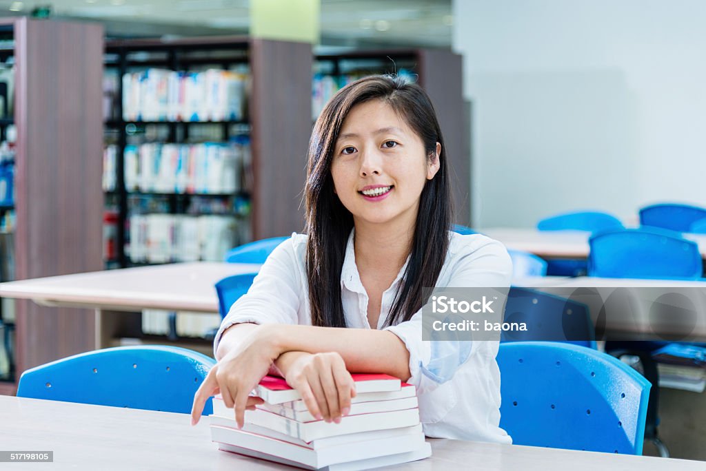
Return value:
M 355 385 L 338 353 L 289 352 L 292 361 L 277 365 L 285 374 L 287 384 L 299 391 L 311 415 L 317 420 L 341 422 L 348 415 Z M 281 357 L 280 357 L 281 358 Z

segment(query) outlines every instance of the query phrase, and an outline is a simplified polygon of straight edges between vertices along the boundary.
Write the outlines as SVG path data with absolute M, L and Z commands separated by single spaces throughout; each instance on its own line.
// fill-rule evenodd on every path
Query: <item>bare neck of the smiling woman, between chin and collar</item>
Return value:
M 412 247 L 414 227 L 396 224 L 356 224 L 354 250 L 357 266 L 400 271 Z

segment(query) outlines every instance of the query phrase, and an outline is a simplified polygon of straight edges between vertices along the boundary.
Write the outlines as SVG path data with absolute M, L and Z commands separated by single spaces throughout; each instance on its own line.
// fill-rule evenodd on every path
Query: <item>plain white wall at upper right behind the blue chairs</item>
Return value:
M 706 1 L 454 0 L 472 217 L 706 206 Z

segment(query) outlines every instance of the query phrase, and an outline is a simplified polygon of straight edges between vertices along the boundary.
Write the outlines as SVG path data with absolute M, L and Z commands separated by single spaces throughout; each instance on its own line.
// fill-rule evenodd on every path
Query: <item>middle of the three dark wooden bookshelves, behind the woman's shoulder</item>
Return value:
M 311 123 L 311 44 L 251 37 L 192 37 L 188 39 L 112 39 L 105 44 L 106 72 L 114 73 L 116 94 L 113 109 L 104 116 L 106 138 L 116 145 L 115 188 L 106 193 L 107 206 L 117 209 L 116 259 L 114 266 L 140 264 L 126 252 L 128 224 L 136 199 L 161 201 L 157 212 L 184 214 L 193 197 L 210 198 L 234 206 L 234 197 L 246 201 L 248 214 L 233 209 L 225 213 L 244 219 L 253 240 L 286 236 L 304 227 L 300 209 L 301 188 L 306 176 L 306 149 Z M 238 121 L 126 121 L 123 113 L 122 77 L 149 68 L 189 73 L 208 68 L 222 70 L 243 66 L 249 75 L 246 113 Z M 189 192 L 138 192 L 126 188 L 126 145 L 136 133 L 143 142 L 193 143 L 205 128 L 220 133 L 215 140 L 227 142 L 234 135 L 248 136 L 251 181 L 246 190 L 223 194 Z M 149 133 L 152 133 L 151 135 Z M 159 137 L 155 138 L 154 136 Z M 204 140 L 202 142 L 207 142 Z M 213 140 L 211 140 L 213 142 Z M 246 242 L 241 238 L 240 242 Z M 178 261 L 179 257 L 169 261 Z

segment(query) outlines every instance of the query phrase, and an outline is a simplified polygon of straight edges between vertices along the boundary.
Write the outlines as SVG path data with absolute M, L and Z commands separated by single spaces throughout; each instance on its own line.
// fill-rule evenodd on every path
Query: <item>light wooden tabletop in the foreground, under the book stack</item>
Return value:
M 429 439 L 431 458 L 385 469 L 524 471 L 706 470 L 700 461 Z M 101 405 L 0 396 L 2 451 L 53 451 L 54 463 L 3 470 L 293 470 L 218 451 L 208 420 Z

